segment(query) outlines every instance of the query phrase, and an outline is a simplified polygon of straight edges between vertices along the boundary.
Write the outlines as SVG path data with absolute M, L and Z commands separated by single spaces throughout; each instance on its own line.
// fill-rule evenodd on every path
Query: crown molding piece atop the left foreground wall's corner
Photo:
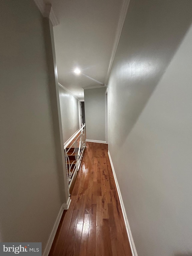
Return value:
M 51 4 L 45 4 L 44 0 L 34 0 L 43 17 L 49 18 L 53 26 L 59 24 L 59 21 L 53 11 Z

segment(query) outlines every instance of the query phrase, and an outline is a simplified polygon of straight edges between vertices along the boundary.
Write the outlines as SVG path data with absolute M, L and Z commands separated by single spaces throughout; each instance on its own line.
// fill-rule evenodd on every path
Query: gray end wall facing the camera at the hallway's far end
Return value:
M 105 91 L 105 87 L 84 90 L 86 138 L 88 140 L 106 141 Z

